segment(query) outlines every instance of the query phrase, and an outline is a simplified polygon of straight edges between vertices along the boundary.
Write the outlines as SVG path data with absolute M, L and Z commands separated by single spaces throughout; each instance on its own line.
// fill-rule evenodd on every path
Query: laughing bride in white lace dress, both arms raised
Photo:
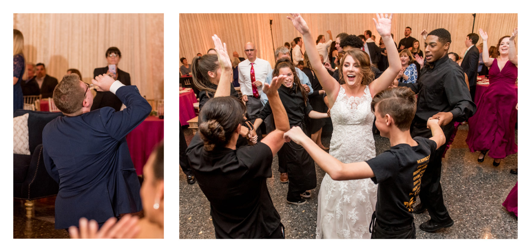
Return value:
M 369 55 L 354 45 L 357 37 L 349 36 L 340 41 L 344 51 L 339 65 L 340 85 L 321 64 L 318 50 L 308 25 L 300 14 L 288 19 L 303 35 L 306 53 L 324 91 L 328 94 L 333 133 L 330 140 L 330 154 L 344 163 L 366 161 L 375 157 L 372 123 L 374 114 L 371 101 L 374 95 L 387 89 L 401 69 L 400 58 L 391 38 L 392 14 L 376 14 L 373 19 L 376 30 L 389 48 L 389 67 L 380 77 L 373 80 Z M 361 42 L 361 41 L 360 41 Z M 353 42 L 353 44 L 356 44 Z M 363 44 L 359 45 L 362 47 Z M 356 46 L 357 47 L 357 46 Z M 395 49 L 392 49 L 395 48 Z M 369 225 L 376 206 L 376 186 L 371 179 L 332 180 L 324 175 L 319 190 L 319 205 L 316 238 L 365 238 L 369 239 Z

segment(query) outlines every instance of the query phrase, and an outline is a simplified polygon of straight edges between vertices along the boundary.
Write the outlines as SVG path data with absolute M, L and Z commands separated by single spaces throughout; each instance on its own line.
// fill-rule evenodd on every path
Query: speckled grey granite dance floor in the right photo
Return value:
M 190 142 L 191 130 L 185 130 Z M 468 126 L 459 126 L 451 148 L 442 163 L 441 184 L 444 202 L 454 224 L 437 232 L 425 232 L 418 225 L 430 219 L 427 211 L 415 214 L 417 239 L 517 239 L 518 218 L 501 204 L 515 186 L 518 175 L 509 170 L 517 168 L 518 154 L 492 166 L 492 158 L 477 162 L 479 152 L 470 153 L 465 143 Z M 518 131 L 516 132 L 518 140 Z M 388 138 L 374 136 L 376 154 L 389 148 Z M 329 145 L 330 135 L 323 134 L 322 142 Z M 309 203 L 295 206 L 286 203 L 288 184 L 279 181 L 278 159 L 273 158 L 273 177 L 267 180 L 273 204 L 286 228 L 287 239 L 315 237 L 317 198 L 324 171 L 316 165 L 317 187 L 312 190 Z M 179 174 L 179 238 L 213 239 L 214 227 L 209 215 L 210 205 L 198 184 L 188 185 L 182 171 Z

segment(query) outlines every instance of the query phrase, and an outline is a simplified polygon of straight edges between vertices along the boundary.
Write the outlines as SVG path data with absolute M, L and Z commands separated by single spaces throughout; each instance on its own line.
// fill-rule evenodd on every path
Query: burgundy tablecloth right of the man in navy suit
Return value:
M 151 151 L 164 139 L 164 119 L 148 116 L 138 127 L 127 134 L 125 139 L 136 174 L 142 175 L 144 164 L 148 161 Z

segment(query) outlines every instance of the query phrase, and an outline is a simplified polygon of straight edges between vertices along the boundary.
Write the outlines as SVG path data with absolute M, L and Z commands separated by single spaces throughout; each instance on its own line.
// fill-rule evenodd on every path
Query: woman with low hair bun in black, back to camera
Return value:
M 218 45 L 216 51 L 220 55 Z M 224 53 L 226 50 L 221 54 Z M 225 62 L 220 60 L 220 64 L 225 68 Z M 230 71 L 230 64 L 227 66 Z M 216 238 L 284 239 L 284 225 L 266 184 L 272 176 L 273 155 L 284 144 L 283 135 L 289 130 L 286 110 L 277 91 L 284 79 L 279 75 L 271 85 L 263 84 L 276 129 L 258 144 L 236 148 L 246 109 L 239 99 L 218 97 L 218 91 L 229 90 L 230 82 L 220 82 L 216 97 L 201 108 L 199 133 L 192 138 L 186 155 L 210 202 Z

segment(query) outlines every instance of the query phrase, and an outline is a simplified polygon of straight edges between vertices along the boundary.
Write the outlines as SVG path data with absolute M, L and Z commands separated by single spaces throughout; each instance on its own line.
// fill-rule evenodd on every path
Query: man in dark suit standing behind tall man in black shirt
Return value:
M 479 40 L 479 35 L 476 33 L 470 33 L 466 36 L 465 56 L 461 62 L 461 68 L 463 72 L 468 76 L 468 84 L 470 85 L 470 97 L 474 101 L 474 94 L 476 93 L 476 80 L 477 80 L 477 67 L 479 66 L 479 50 L 476 47 L 476 43 Z

